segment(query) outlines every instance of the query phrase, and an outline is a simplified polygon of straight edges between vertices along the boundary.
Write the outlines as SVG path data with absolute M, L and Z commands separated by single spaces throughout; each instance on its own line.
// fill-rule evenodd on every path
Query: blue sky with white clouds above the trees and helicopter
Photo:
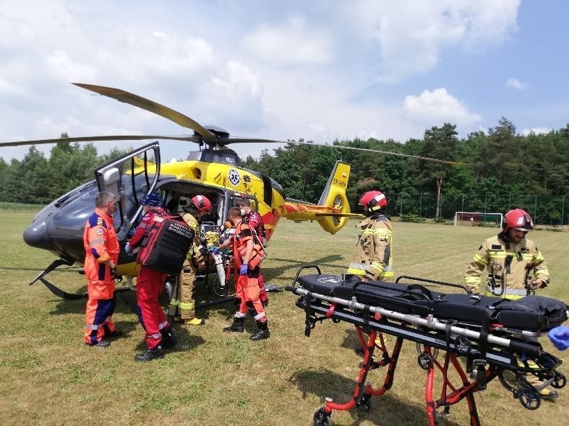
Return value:
M 568 16 L 563 0 L 0 0 L 0 141 L 190 133 L 71 82 L 281 141 L 406 141 L 445 122 L 466 137 L 502 116 L 548 132 L 569 122 Z

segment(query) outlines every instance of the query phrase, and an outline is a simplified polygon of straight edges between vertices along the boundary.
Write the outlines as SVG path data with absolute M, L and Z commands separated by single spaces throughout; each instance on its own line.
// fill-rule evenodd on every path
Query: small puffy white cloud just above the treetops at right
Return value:
M 481 116 L 468 111 L 461 101 L 449 94 L 445 88 L 424 90 L 420 96 L 406 96 L 403 111 L 412 121 L 427 125 L 472 125 L 482 120 Z

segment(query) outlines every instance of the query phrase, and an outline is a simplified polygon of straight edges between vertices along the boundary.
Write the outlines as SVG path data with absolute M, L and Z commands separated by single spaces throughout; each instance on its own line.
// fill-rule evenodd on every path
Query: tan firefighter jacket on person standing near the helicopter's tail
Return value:
M 393 228 L 389 219 L 384 215 L 373 215 L 359 222 L 358 227 L 359 238 L 348 274 L 380 281 L 393 279 Z

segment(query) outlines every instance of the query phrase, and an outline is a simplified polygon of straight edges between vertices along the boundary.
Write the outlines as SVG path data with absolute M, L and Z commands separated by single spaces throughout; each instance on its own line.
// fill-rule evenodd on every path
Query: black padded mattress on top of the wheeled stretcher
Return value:
M 350 274 L 314 274 L 297 278 L 301 287 L 323 296 L 352 300 L 404 314 L 432 314 L 437 319 L 482 325 L 499 323 L 506 328 L 547 331 L 568 318 L 568 306 L 543 296 L 517 300 L 500 297 L 444 294 L 419 284 L 361 281 Z

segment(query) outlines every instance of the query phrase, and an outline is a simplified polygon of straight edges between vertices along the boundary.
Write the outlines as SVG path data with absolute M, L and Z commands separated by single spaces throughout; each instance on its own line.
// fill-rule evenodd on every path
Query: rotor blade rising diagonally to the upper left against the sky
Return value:
M 188 129 L 194 130 L 194 132 L 198 133 L 203 138 L 203 141 L 209 145 L 215 145 L 217 141 L 217 136 L 207 130 L 197 121 L 194 121 L 192 118 L 189 118 L 180 112 L 174 111 L 169 107 L 164 107 L 164 105 L 155 103 L 153 100 L 142 98 L 142 96 L 131 94 L 128 91 L 121 89 L 114 89 L 113 87 L 85 85 L 83 83 L 73 84 L 78 87 L 83 87 L 83 89 L 94 91 L 97 94 L 119 100 L 120 102 L 128 103 L 130 105 L 134 105 L 135 107 L 146 109 L 146 111 L 153 112 L 154 114 L 158 114 L 164 118 L 168 118 L 170 121 L 173 121 L 182 127 L 187 127 Z

